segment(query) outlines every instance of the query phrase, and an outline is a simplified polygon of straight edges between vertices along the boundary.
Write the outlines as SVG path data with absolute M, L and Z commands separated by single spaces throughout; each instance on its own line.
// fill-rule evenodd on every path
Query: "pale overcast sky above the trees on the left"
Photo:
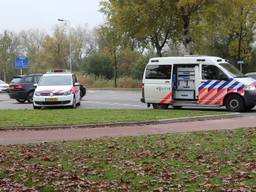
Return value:
M 100 0 L 0 0 L 0 33 L 41 29 L 51 32 L 57 19 L 66 19 L 73 27 L 90 28 L 104 22 Z

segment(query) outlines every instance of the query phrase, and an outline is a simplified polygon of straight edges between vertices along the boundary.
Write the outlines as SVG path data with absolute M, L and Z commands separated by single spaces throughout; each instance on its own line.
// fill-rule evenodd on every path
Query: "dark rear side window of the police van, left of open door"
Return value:
M 171 65 L 148 65 L 146 79 L 170 79 L 171 71 Z

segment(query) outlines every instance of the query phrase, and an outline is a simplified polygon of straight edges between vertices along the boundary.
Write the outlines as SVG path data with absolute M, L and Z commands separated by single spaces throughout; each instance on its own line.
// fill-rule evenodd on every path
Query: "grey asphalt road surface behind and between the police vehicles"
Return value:
M 140 102 L 140 91 L 123 90 L 87 90 L 79 108 L 118 108 L 118 109 L 146 109 Z M 0 94 L 0 109 L 32 109 L 32 104 L 18 103 L 10 99 L 8 94 Z

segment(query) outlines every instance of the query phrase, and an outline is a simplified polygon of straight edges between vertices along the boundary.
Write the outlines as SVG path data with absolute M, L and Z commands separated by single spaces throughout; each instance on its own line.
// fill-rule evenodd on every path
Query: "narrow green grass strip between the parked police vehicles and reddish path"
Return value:
M 200 110 L 59 109 L 0 110 L 0 127 L 101 124 L 222 115 L 228 112 Z

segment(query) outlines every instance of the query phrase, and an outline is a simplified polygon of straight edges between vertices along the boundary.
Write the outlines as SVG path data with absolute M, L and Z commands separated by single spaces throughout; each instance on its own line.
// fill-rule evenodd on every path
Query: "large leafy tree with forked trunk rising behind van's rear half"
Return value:
M 169 39 L 178 36 L 176 1 L 103 0 L 102 12 L 109 24 L 127 37 L 142 44 L 150 43 L 162 56 Z

